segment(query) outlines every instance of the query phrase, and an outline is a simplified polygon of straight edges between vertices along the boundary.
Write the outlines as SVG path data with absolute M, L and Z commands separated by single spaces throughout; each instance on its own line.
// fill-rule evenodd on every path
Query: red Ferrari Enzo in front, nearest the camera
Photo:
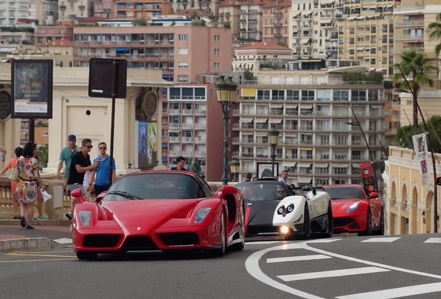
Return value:
M 81 190 L 72 192 L 80 197 Z M 245 245 L 244 202 L 235 187 L 214 193 L 193 172 L 121 176 L 96 202 L 75 207 L 72 243 L 80 260 L 98 253 L 201 250 L 222 256 Z

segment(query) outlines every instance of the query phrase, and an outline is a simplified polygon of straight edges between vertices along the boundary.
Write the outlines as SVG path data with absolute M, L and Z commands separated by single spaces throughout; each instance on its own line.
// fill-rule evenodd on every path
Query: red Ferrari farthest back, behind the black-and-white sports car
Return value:
M 384 209 L 377 192 L 361 185 L 325 185 L 331 198 L 334 233 L 384 235 Z

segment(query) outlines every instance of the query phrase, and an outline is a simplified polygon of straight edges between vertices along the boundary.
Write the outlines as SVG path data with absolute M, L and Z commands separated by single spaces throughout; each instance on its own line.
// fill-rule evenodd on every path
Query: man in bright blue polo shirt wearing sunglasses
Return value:
M 98 145 L 99 156 L 94 158 L 94 163 L 96 161 L 100 162 L 98 168 L 96 168 L 96 177 L 95 177 L 95 185 L 94 192 L 95 196 L 100 194 L 103 191 L 107 191 L 110 188 L 110 185 L 116 180 L 116 163 L 115 158 L 112 161 L 112 182 L 109 182 L 109 167 L 110 167 L 110 156 L 106 154 L 107 145 L 105 142 L 101 142 Z M 91 183 L 94 181 L 92 177 Z

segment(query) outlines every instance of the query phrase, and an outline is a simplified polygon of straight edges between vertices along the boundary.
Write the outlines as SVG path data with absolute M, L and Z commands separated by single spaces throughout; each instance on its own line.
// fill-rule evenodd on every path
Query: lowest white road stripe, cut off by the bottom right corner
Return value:
M 385 289 L 366 293 L 356 293 L 347 296 L 337 297 L 338 299 L 390 299 L 420 295 L 423 293 L 435 293 L 441 291 L 441 282 L 431 284 L 418 284 L 411 287 L 401 287 L 396 289 Z

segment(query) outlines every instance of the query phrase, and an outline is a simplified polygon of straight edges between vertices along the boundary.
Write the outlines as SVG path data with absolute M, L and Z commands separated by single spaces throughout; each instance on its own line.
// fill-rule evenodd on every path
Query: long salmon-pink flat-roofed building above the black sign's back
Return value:
M 198 74 L 230 71 L 231 44 L 223 26 L 76 26 L 74 66 L 122 58 L 130 68 L 161 69 L 164 80 L 191 83 Z

